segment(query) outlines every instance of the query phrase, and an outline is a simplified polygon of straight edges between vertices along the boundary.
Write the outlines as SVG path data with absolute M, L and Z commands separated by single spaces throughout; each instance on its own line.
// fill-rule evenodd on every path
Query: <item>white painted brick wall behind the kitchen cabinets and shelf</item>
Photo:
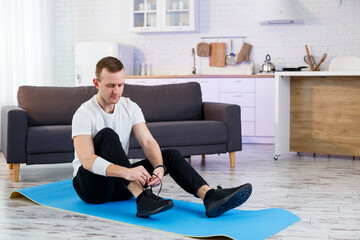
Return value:
M 323 70 L 336 56 L 360 56 L 359 0 L 293 2 L 305 24 L 259 25 L 261 1 L 199 0 L 198 32 L 136 34 L 130 31 L 131 0 L 56 0 L 56 84 L 74 85 L 74 45 L 80 41 L 133 45 L 135 74 L 141 62 L 152 64 L 153 74 L 191 74 L 191 48 L 202 36 L 245 35 L 253 45 L 257 71 L 267 53 L 277 68 L 305 65 L 305 44 L 318 60 L 328 54 Z M 235 40 L 234 51 L 241 46 L 242 40 Z M 208 69 L 208 58 L 196 60 L 198 72 Z M 230 73 L 232 68 L 219 69 L 224 71 Z

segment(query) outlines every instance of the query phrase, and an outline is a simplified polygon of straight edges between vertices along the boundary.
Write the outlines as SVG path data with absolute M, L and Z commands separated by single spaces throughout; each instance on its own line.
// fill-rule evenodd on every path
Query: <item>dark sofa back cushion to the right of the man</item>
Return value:
M 140 106 L 147 122 L 202 118 L 201 88 L 196 82 L 155 86 L 128 84 L 123 96 Z

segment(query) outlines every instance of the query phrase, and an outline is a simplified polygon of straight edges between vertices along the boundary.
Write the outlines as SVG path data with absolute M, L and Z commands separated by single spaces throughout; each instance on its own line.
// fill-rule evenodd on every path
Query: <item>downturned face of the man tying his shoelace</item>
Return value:
M 109 72 L 103 69 L 100 79 L 94 79 L 94 85 L 99 90 L 100 97 L 105 104 L 116 104 L 124 91 L 125 71 Z

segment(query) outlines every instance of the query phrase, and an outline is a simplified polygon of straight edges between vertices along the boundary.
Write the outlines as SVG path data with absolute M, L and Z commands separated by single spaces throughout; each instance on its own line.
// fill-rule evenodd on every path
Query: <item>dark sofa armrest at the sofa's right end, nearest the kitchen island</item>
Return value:
M 204 102 L 204 120 L 224 122 L 228 129 L 228 152 L 241 151 L 240 106 L 236 104 Z

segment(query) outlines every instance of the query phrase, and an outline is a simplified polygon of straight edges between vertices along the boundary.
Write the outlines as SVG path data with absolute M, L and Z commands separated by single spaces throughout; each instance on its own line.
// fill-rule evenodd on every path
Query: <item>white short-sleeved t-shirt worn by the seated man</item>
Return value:
M 125 153 L 129 151 L 129 140 L 132 126 L 145 122 L 140 107 L 129 98 L 121 97 L 113 113 L 105 112 L 96 100 L 96 95 L 83 103 L 76 110 L 72 120 L 72 138 L 78 135 L 95 135 L 103 128 L 113 129 L 120 138 Z M 73 161 L 74 176 L 81 162 L 75 151 Z

